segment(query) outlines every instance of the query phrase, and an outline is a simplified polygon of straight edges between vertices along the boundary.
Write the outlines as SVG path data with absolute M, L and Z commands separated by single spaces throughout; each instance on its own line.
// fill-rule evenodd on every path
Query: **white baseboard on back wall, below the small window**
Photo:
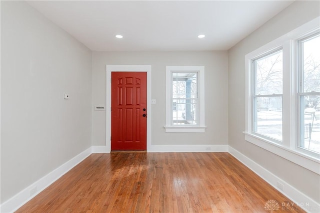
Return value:
M 227 152 L 228 145 L 151 145 L 147 152 Z

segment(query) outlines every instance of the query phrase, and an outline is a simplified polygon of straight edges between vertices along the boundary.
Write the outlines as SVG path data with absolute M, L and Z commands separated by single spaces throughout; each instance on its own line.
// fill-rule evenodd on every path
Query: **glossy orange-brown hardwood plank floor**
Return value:
M 265 208 L 277 202 L 279 209 Z M 304 212 L 228 153 L 92 154 L 17 213 Z

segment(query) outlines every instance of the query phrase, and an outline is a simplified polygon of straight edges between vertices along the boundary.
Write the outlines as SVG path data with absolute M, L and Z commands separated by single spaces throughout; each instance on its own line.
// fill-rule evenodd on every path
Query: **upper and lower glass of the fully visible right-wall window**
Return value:
M 252 60 L 252 132 L 282 141 L 282 49 Z

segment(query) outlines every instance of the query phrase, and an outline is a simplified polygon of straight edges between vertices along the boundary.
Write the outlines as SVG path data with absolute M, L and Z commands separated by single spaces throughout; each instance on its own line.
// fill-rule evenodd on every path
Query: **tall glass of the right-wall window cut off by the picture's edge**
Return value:
M 298 44 L 298 147 L 320 153 L 320 34 Z

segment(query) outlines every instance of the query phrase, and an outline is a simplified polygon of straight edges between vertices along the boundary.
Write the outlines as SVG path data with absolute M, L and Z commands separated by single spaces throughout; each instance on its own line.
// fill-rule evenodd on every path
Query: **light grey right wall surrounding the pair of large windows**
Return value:
M 244 55 L 320 15 L 319 1 L 295 1 L 228 51 L 229 146 L 320 203 L 319 175 L 244 140 Z

